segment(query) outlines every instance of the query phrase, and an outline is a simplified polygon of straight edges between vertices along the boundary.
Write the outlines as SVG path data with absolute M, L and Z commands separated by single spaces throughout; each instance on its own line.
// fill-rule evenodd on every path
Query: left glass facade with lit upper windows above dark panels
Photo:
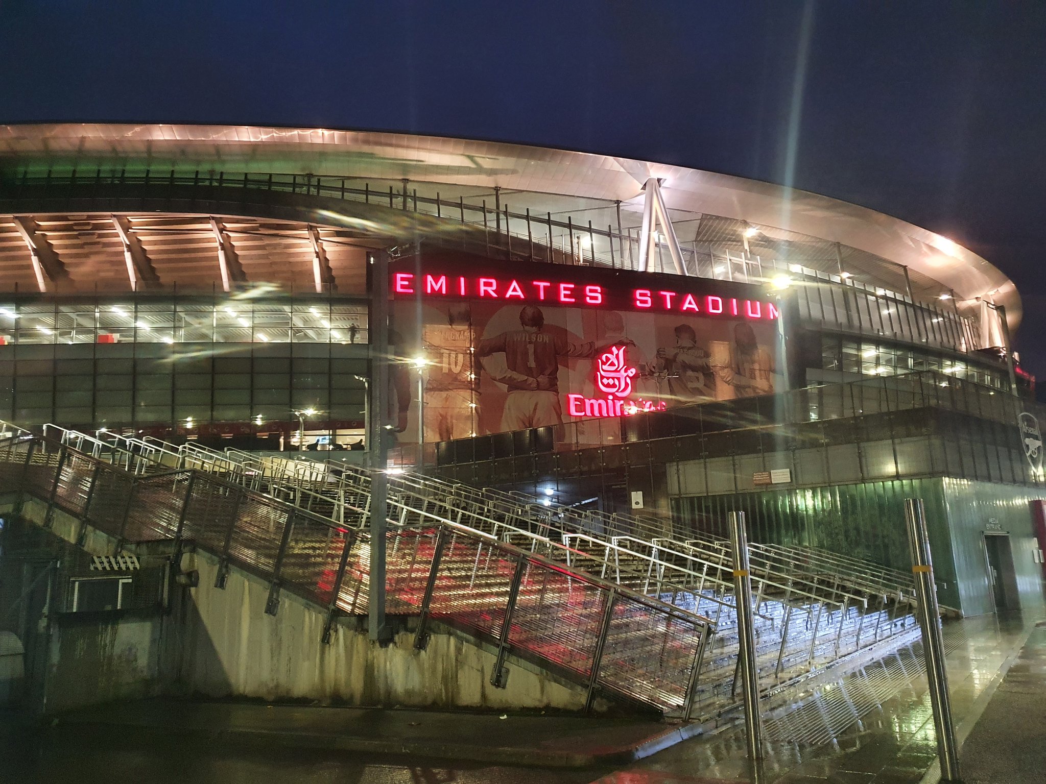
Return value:
M 23 426 L 236 432 L 360 428 L 367 306 L 136 297 L 0 305 L 0 419 Z M 310 428 L 312 429 L 312 428 Z

